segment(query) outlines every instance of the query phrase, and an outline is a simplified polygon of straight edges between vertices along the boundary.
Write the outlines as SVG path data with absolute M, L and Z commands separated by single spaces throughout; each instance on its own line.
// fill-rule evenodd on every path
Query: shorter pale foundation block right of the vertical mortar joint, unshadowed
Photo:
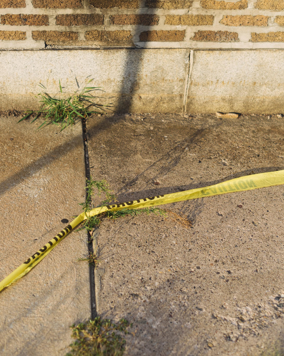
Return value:
M 283 51 L 194 51 L 187 112 L 284 112 Z

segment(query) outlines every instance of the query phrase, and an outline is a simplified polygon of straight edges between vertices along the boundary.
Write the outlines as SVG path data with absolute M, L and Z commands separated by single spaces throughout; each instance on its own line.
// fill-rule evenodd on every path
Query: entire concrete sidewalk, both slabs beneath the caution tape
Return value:
M 17 120 L 0 120 L 1 278 L 85 199 L 81 125 L 59 133 Z M 280 116 L 101 116 L 87 135 L 91 175 L 120 202 L 283 169 Z M 166 218 L 103 220 L 97 312 L 133 323 L 125 355 L 283 352 L 283 196 L 280 185 L 162 206 Z M 91 315 L 89 268 L 77 262 L 86 241 L 71 233 L 0 293 L 1 355 L 69 351 L 69 326 Z

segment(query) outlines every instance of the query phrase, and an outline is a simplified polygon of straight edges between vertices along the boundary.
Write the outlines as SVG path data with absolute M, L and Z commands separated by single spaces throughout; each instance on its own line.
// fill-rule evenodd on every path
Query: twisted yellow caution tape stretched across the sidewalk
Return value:
M 34 255 L 27 259 L 21 266 L 15 269 L 0 282 L 0 291 L 10 286 L 10 284 L 23 277 L 34 266 L 38 264 L 53 248 L 59 244 L 77 225 L 79 225 L 87 216 L 95 216 L 104 213 L 107 210 L 117 211 L 123 209 L 139 209 L 154 205 L 163 205 L 168 203 L 175 203 L 176 201 L 189 200 L 210 197 L 211 195 L 219 195 L 232 192 L 242 192 L 244 190 L 251 190 L 256 188 L 271 187 L 273 185 L 284 184 L 284 170 L 276 172 L 258 173 L 250 176 L 244 176 L 225 182 L 209 185 L 205 188 L 196 188 L 184 190 L 183 192 L 171 193 L 165 195 L 156 195 L 151 198 L 143 198 L 126 203 L 112 204 L 100 206 L 92 209 L 89 212 L 82 213 L 77 216 L 69 225 L 59 232 L 53 239 L 48 241 L 46 245 L 40 248 Z

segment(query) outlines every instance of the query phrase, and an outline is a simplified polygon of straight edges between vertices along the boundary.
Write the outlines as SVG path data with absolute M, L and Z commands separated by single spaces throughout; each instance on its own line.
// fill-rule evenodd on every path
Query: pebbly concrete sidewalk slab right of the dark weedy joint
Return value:
M 88 133 L 91 174 L 119 201 L 283 169 L 277 116 L 100 117 Z M 263 355 L 281 346 L 283 196 L 282 185 L 164 206 L 192 228 L 171 213 L 103 221 L 97 311 L 133 323 L 125 355 Z

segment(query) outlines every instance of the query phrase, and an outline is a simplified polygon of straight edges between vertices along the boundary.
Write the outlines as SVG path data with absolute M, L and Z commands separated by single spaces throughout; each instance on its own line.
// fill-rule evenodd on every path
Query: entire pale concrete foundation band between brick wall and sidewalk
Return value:
M 47 93 L 90 78 L 119 112 L 284 112 L 284 50 L 77 49 L 0 51 L 0 110 L 37 109 Z M 75 79 L 76 77 L 76 79 Z

